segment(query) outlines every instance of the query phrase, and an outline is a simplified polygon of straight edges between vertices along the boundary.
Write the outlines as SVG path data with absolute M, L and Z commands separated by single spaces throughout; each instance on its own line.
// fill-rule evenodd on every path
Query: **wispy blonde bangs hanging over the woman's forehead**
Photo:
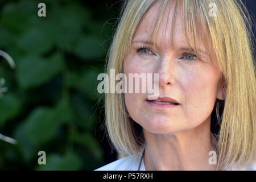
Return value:
M 156 1 L 155 1 L 156 2 Z M 169 23 L 170 18 L 170 11 L 171 9 L 167 10 L 167 3 L 171 2 L 171 6 L 174 7 L 171 17 L 171 22 Z M 203 2 L 203 4 L 207 2 Z M 198 49 L 199 44 L 202 44 L 205 47 L 205 52 L 210 56 L 210 61 L 213 61 L 213 57 L 210 54 L 210 48 L 212 47 L 212 39 L 209 32 L 208 22 L 205 18 L 205 6 L 200 5 L 198 1 L 169 1 L 163 0 L 161 6 L 159 6 L 159 14 L 156 16 L 156 23 L 154 27 L 151 27 L 153 31 L 151 31 L 151 37 L 154 34 L 154 45 L 153 49 L 155 49 L 156 45 L 156 37 L 158 35 L 159 27 L 162 23 L 165 23 L 168 28 L 171 28 L 171 48 L 176 49 L 176 45 L 174 44 L 174 29 L 176 24 L 176 17 L 177 12 L 180 11 L 183 19 L 182 24 L 184 28 L 185 38 L 187 40 L 187 45 L 189 48 L 189 52 L 194 53 L 197 57 L 200 58 L 200 51 Z M 207 7 L 207 6 L 206 6 Z M 167 22 L 162 22 L 163 14 L 165 11 L 169 11 L 168 20 Z M 154 32 L 154 33 L 153 33 Z

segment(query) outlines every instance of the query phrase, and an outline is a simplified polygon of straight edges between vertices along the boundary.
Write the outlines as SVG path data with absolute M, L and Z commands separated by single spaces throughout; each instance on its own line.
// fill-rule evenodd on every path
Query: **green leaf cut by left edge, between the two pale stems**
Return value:
M 0 98 L 0 125 L 19 114 L 21 103 L 13 93 L 4 93 Z

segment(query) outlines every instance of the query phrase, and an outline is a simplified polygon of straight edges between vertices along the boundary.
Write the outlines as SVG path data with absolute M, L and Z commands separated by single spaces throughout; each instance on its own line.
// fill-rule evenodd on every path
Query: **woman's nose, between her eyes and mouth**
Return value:
M 158 65 L 159 86 L 168 86 L 175 83 L 176 66 L 174 57 L 166 56 Z

